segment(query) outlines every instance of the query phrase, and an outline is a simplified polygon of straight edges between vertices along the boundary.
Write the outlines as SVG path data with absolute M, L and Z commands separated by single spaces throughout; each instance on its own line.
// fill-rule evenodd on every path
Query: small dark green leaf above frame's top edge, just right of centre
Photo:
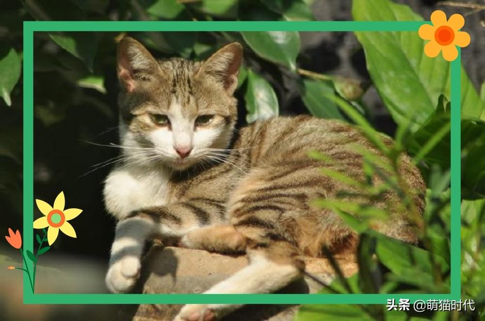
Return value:
M 269 10 L 288 21 L 314 20 L 311 7 L 303 0 L 260 0 Z

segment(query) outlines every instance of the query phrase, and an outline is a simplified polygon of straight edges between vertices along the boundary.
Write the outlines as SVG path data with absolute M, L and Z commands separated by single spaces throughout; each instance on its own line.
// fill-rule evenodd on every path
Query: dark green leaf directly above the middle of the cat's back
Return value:
M 325 97 L 325 93 L 334 94 L 330 82 L 304 79 L 300 86 L 302 100 L 313 116 L 319 118 L 344 119 L 335 102 Z

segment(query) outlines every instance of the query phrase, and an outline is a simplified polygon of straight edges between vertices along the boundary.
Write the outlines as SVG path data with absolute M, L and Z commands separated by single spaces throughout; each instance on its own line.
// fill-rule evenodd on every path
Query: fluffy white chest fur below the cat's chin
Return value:
M 161 168 L 115 168 L 104 186 L 106 209 L 118 220 L 132 211 L 167 202 L 169 170 Z

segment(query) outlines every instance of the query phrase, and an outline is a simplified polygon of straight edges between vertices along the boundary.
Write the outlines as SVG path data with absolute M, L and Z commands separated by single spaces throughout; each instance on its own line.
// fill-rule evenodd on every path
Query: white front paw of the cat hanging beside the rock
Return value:
M 106 286 L 113 293 L 130 290 L 140 276 L 140 259 L 126 256 L 114 261 L 106 274 Z

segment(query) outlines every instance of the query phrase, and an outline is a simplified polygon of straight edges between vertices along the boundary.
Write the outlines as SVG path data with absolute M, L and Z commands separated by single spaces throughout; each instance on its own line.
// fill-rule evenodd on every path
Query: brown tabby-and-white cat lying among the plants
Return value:
M 144 244 L 155 237 L 248 256 L 247 267 L 205 293 L 273 292 L 301 277 L 303 256 L 321 257 L 323 248 L 355 259 L 357 234 L 338 214 L 309 204 L 346 186 L 324 176 L 323 163 L 307 152 L 325 153 L 334 160 L 325 167 L 360 178 L 362 157 L 352 146 L 379 152 L 358 128 L 306 115 L 236 130 L 241 63 L 239 43 L 194 62 L 157 61 L 132 38 L 119 42 L 123 163 L 110 172 L 104 189 L 106 209 L 118 221 L 106 275 L 112 292 L 132 288 Z M 400 170 L 422 213 L 425 185 L 418 168 L 403 155 Z M 399 201 L 393 194 L 386 198 Z M 403 213 L 372 228 L 418 242 L 417 227 Z M 218 319 L 238 307 L 186 305 L 175 320 Z

